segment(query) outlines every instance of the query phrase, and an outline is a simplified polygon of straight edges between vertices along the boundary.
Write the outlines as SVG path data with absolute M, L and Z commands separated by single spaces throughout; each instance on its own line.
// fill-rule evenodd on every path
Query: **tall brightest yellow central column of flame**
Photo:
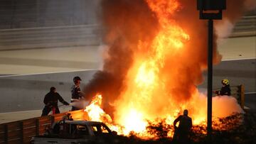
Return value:
M 166 85 L 166 79 L 161 77 L 161 70 L 165 68 L 166 57 L 169 55 L 175 56 L 189 40 L 189 35 L 174 20 L 169 19 L 169 16 L 179 9 L 180 4 L 178 1 L 146 2 L 149 4 L 151 11 L 154 11 L 159 18 L 161 28 L 151 43 L 139 43 L 139 49 L 147 49 L 148 52 L 138 52 L 134 56 L 138 58 L 134 60 L 134 65 L 127 74 L 127 89 L 121 94 L 122 99 L 116 101 L 118 109 L 115 113 L 116 121 L 117 123 L 123 123 L 127 131 L 137 131 L 137 129 L 130 126 L 130 123 L 142 123 L 136 126 L 144 127 L 139 128 L 143 131 L 146 128 L 144 124 L 146 120 L 154 121 L 156 118 L 168 117 L 171 124 L 174 116 L 178 114 L 175 113 L 174 115 L 171 111 L 179 111 L 181 107 L 185 107 L 180 104 L 168 106 L 161 103 L 163 107 L 155 104 L 161 101 L 160 97 L 162 95 L 164 95 L 163 97 L 169 97 L 169 99 L 165 99 L 167 103 L 173 103 L 171 94 L 166 90 L 170 87 Z M 161 7 L 169 9 L 161 9 Z M 149 48 L 143 48 L 144 46 Z M 155 101 L 156 99 L 160 101 Z M 157 111 L 158 109 L 159 111 Z M 131 111 L 138 116 L 127 114 Z M 124 120 L 129 121 L 130 119 L 133 121 L 124 123 Z

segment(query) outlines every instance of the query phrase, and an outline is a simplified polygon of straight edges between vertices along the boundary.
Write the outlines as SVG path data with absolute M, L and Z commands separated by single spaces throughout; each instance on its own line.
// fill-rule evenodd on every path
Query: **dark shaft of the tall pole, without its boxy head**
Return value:
M 208 99 L 207 99 L 207 135 L 212 135 L 212 98 L 213 98 L 213 20 L 208 21 Z

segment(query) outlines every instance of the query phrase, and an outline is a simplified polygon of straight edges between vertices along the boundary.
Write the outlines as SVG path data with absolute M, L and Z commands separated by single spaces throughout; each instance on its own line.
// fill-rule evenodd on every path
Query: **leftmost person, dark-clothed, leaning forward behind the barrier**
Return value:
M 58 109 L 58 101 L 66 106 L 69 105 L 68 102 L 64 101 L 60 94 L 58 94 L 55 87 L 50 87 L 50 92 L 48 92 L 43 99 L 43 103 L 46 104 L 46 106 L 44 106 L 41 116 L 47 116 L 52 109 L 55 109 L 55 113 L 60 113 L 60 110 Z

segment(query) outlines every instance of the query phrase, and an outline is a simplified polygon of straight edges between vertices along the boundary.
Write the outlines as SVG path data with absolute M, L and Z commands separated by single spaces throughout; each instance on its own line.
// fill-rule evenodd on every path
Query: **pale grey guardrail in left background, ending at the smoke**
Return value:
M 0 50 L 68 48 L 100 45 L 100 26 L 65 26 L 0 30 Z

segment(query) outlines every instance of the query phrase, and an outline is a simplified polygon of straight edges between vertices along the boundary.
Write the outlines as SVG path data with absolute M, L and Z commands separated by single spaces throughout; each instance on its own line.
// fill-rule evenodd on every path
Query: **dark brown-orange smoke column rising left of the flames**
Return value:
M 101 93 L 103 103 L 117 99 L 124 87 L 124 78 L 132 65 L 138 40 L 151 40 L 158 21 L 145 1 L 102 0 L 103 40 L 107 47 L 103 70 L 97 72 L 85 87 L 88 99 Z M 107 103 L 105 103 L 107 101 Z

